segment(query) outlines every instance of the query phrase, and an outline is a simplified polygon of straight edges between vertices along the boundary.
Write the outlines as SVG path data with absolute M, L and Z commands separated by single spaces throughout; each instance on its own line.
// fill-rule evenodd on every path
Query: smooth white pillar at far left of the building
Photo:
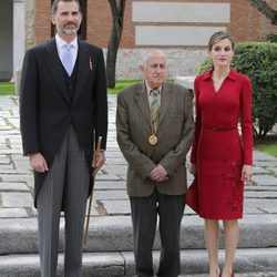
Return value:
M 25 1 L 13 0 L 13 76 L 25 53 Z

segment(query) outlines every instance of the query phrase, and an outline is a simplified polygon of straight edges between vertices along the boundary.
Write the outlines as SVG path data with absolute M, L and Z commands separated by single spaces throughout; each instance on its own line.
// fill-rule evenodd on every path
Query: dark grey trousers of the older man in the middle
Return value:
M 158 215 L 162 252 L 156 275 L 177 277 L 181 273 L 179 229 L 185 196 L 162 195 L 154 191 L 148 197 L 130 197 L 130 202 L 136 276 L 154 276 L 152 248 Z

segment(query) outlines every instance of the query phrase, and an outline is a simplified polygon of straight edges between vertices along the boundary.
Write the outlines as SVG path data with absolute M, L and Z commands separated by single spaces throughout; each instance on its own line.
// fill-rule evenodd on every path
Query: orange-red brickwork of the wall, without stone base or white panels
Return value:
M 140 2 L 148 2 L 140 0 Z M 134 25 L 144 23 L 132 22 L 132 2 L 138 0 L 127 0 L 124 18 L 124 31 L 121 48 L 134 48 Z M 168 0 L 152 0 L 152 2 L 170 2 Z M 277 27 L 273 27 L 270 21 L 253 8 L 247 0 L 174 0 L 174 2 L 214 2 L 230 3 L 230 23 L 225 24 L 227 30 L 234 35 L 236 41 L 259 41 L 267 33 L 277 33 Z M 267 2 L 277 9 L 276 0 Z M 51 0 L 37 1 L 35 6 L 35 42 L 41 43 L 50 38 L 50 7 Z M 153 25 L 158 23 L 153 23 Z M 171 23 L 167 23 L 171 25 Z M 201 23 L 179 23 L 177 25 L 199 25 Z M 176 24 L 175 24 L 176 25 Z M 205 25 L 205 23 L 201 24 Z M 212 23 L 209 25 L 217 25 Z M 220 24 L 222 25 L 222 24 Z M 112 28 L 112 16 L 109 1 L 88 1 L 88 27 L 86 40 L 102 48 L 106 48 Z

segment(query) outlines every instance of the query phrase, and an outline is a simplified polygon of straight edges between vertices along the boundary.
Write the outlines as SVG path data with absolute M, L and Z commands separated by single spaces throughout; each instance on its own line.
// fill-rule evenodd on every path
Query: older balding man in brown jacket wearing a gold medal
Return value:
M 152 247 L 160 216 L 162 253 L 157 276 L 181 273 L 179 228 L 186 193 L 186 153 L 194 136 L 192 94 L 165 82 L 167 62 L 150 51 L 144 82 L 117 96 L 117 142 L 129 163 L 127 194 L 134 233 L 135 273 L 153 276 Z

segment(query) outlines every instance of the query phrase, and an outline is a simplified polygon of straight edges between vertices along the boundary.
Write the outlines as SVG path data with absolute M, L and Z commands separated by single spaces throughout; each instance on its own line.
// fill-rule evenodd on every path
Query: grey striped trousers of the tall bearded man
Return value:
M 71 126 L 38 195 L 42 277 L 57 276 L 60 214 L 64 206 L 64 276 L 82 276 L 82 244 L 90 172 Z

